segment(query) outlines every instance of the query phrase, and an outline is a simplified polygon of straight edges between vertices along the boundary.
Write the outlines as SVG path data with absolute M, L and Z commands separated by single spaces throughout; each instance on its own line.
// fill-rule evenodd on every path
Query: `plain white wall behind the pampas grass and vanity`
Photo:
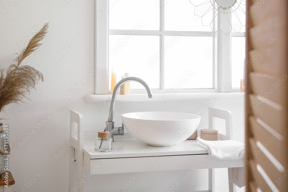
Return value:
M 67 0 L 68 1 L 68 0 Z M 14 2 L 14 4 L 13 4 Z M 68 155 L 67 151 L 56 159 L 55 154 L 69 142 L 69 110 L 79 111 L 84 115 L 86 133 L 102 130 L 108 111 L 102 113 L 101 108 L 107 102 L 89 103 L 84 101 L 86 94 L 94 93 L 94 77 L 87 82 L 83 78 L 94 70 L 94 1 L 70 0 L 37 1 L 37 0 L 2 0 L 0 1 L 0 66 L 7 69 L 15 53 L 19 53 L 20 42 L 34 35 L 41 28 L 43 21 L 49 21 L 50 27 L 43 45 L 35 53 L 23 61 L 43 73 L 44 82 L 39 82 L 37 91 L 31 91 L 31 101 L 5 108 L 0 113 L 1 121 L 9 124 L 10 134 L 10 171 L 16 181 L 13 191 L 67 191 Z M 12 8 L 7 8 L 7 6 Z M 4 10 L 4 11 L 3 11 Z M 35 29 L 36 28 L 36 29 Z M 79 41 L 73 46 L 69 41 L 79 34 Z M 77 40 L 77 38 L 76 38 Z M 24 45 L 26 46 L 26 44 Z M 61 50 L 69 50 L 53 63 Z M 61 54 L 60 54 L 61 56 Z M 82 87 L 65 100 L 68 92 L 81 83 Z M 198 98 L 189 101 L 151 102 L 118 102 L 115 108 L 115 126 L 121 125 L 120 114 L 134 111 L 178 111 L 196 113 L 205 106 L 210 98 Z M 243 124 L 234 132 L 236 140 L 244 142 L 244 97 L 235 94 L 230 98 L 220 97 L 211 107 L 232 111 L 233 124 Z M 46 117 L 48 116 L 49 119 Z M 208 127 L 208 110 L 202 115 L 199 130 Z M 45 118 L 46 117 L 46 118 Z M 47 121 L 44 121 L 47 120 Z M 37 124 L 40 123 L 40 126 Z M 42 123 L 42 124 L 41 124 Z M 35 134 L 23 140 L 32 130 Z M 30 134 L 31 135 L 31 134 Z M 20 145 L 23 142 L 24 145 Z M 141 165 L 139 165 L 141 166 Z M 138 179 L 126 191 L 167 191 L 186 171 L 147 172 L 135 174 L 109 174 L 92 176 L 87 180 L 87 191 L 123 191 L 121 186 L 130 176 Z M 33 185 L 35 174 L 39 179 Z M 37 177 L 36 177 L 37 178 Z M 225 184 L 225 179 L 217 185 Z M 95 185 L 96 183 L 96 185 Z M 101 185 L 100 185 L 101 184 Z M 105 189 L 106 185 L 109 189 Z M 142 189 L 142 190 L 141 190 Z M 207 170 L 197 170 L 177 191 L 207 189 Z

